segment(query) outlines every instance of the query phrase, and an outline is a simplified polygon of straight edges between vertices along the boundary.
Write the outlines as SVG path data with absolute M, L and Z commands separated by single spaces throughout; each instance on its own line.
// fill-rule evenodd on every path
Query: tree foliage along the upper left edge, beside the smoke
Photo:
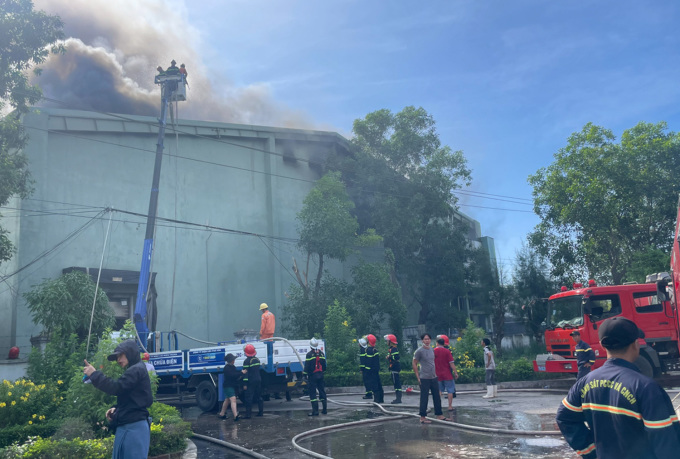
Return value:
M 30 0 L 0 0 L 0 114 L 7 106 L 14 113 L 0 119 L 0 206 L 12 196 L 22 198 L 32 191 L 28 160 L 22 149 L 26 134 L 19 115 L 40 100 L 41 92 L 28 81 L 28 71 L 45 61 L 50 52 L 61 52 L 55 44 L 64 37 L 56 16 L 33 10 Z M 0 215 L 1 217 L 1 215 Z M 0 263 L 12 257 L 14 246 L 0 226 Z

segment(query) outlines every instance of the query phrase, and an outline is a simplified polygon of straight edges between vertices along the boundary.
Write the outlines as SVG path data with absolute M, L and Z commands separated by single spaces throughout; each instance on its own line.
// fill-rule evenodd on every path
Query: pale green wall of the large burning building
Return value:
M 113 212 L 106 250 L 109 214 L 69 235 L 105 207 L 146 215 L 158 127 L 154 118 L 56 109 L 40 109 L 24 124 L 35 192 L 18 203 L 15 221 L 3 218 L 18 247 L 3 268 L 37 261 L 0 286 L 7 318 L 0 353 L 16 343 L 25 355 L 40 333 L 22 299 L 32 285 L 66 267 L 98 268 L 103 251 L 103 268 L 139 271 L 145 216 Z M 213 228 L 158 222 L 157 329 L 233 339 L 236 330 L 259 329 L 261 302 L 279 313 L 294 281 L 291 258 L 302 261 L 295 216 L 319 178 L 314 162 L 344 154 L 347 141 L 332 132 L 185 120 L 176 131 L 168 126 L 165 137 L 158 217 Z M 337 263 L 328 269 L 338 277 L 345 271 Z

